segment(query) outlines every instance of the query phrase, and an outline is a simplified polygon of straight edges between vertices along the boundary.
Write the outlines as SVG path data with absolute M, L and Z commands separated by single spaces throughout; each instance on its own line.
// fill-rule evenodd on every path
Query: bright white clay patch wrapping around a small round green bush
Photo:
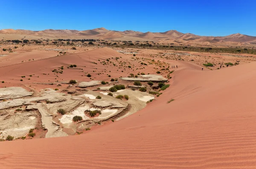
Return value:
M 74 116 L 81 116 L 83 118 L 83 120 L 89 118 L 86 115 L 84 115 L 84 111 L 89 109 L 89 106 L 84 106 L 84 107 L 78 107 L 77 109 L 75 109 L 73 112 L 71 112 L 71 115 L 63 115 L 61 117 L 60 122 L 63 124 L 67 124 L 67 123 L 72 123 L 73 122 L 73 117 Z

